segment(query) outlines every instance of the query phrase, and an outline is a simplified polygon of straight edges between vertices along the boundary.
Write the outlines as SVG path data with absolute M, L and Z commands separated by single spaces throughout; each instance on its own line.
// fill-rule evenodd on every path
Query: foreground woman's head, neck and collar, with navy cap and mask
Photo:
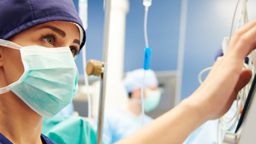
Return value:
M 72 0 L 0 1 L 0 13 L 0 143 L 55 143 L 42 118 L 77 92 L 82 21 Z

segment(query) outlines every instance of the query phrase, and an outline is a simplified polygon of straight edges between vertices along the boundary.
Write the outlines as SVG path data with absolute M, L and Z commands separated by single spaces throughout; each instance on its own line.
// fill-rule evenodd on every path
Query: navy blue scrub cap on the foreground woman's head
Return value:
M 86 42 L 86 32 L 72 0 L 0 1 L 0 39 L 8 40 L 22 31 L 49 21 L 76 23 L 80 31 L 81 50 Z

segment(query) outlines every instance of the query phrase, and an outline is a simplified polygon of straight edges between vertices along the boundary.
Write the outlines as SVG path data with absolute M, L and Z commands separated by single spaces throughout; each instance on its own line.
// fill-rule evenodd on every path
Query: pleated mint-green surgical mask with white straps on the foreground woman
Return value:
M 0 46 L 20 50 L 24 73 L 20 79 L 4 88 L 11 90 L 33 111 L 47 118 L 55 116 L 77 93 L 78 71 L 69 47 L 22 47 L 7 40 Z

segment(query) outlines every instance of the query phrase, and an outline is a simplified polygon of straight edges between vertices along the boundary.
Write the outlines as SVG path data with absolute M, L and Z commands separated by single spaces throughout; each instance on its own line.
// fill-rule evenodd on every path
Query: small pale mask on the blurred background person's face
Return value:
M 146 90 L 146 98 L 143 99 L 146 112 L 156 109 L 160 102 L 161 92 L 159 90 Z

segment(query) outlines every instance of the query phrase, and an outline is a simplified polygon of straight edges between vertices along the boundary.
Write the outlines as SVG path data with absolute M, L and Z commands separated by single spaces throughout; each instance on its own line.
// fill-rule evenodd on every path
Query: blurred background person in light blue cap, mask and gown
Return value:
M 127 76 L 123 79 L 129 100 L 123 107 L 106 111 L 103 131 L 103 139 L 106 143 L 115 143 L 141 129 L 141 84 L 144 72 L 142 68 L 133 70 L 127 72 Z M 161 98 L 158 80 L 153 70 L 147 70 L 143 85 L 144 110 L 150 112 L 156 109 Z M 153 120 L 148 115 L 144 115 L 143 126 L 150 124 Z

